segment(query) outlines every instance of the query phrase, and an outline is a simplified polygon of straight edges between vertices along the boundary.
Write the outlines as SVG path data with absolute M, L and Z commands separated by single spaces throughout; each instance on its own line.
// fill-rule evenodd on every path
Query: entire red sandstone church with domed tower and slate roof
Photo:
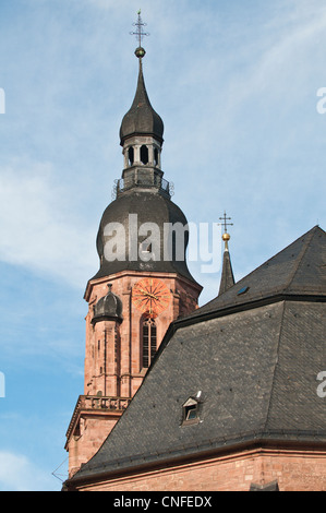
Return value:
M 63 489 L 325 491 L 325 231 L 313 227 L 236 283 L 225 222 L 220 289 L 198 308 L 140 14 L 137 25 L 138 81 L 85 291 L 84 392 Z

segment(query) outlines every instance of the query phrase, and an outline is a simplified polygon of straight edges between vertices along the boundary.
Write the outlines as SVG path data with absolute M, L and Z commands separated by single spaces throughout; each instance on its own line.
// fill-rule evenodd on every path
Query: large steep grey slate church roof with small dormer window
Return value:
M 325 242 L 313 228 L 203 307 L 210 318 L 172 323 L 130 406 L 70 484 L 255 440 L 326 443 L 326 399 L 316 392 L 326 354 Z M 226 311 L 241 285 L 250 301 Z M 198 391 L 201 421 L 184 426 L 182 405 Z

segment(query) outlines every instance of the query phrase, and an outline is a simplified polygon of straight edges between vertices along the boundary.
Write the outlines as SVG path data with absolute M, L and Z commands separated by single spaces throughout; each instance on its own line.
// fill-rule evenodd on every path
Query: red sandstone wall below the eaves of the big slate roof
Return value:
M 326 454 L 255 450 L 232 456 L 125 476 L 81 491 L 249 491 L 278 481 L 280 491 L 326 491 Z

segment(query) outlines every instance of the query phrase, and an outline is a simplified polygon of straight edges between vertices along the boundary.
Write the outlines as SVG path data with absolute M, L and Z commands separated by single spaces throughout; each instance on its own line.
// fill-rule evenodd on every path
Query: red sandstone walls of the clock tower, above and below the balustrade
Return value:
M 121 272 L 106 278 L 90 281 L 85 299 L 88 301 L 86 320 L 86 349 L 84 395 L 132 397 L 143 382 L 147 369 L 141 366 L 142 313 L 131 301 L 132 288 L 144 277 L 156 277 L 171 290 L 171 302 L 157 319 L 157 348 L 170 325 L 179 315 L 197 308 L 202 287 L 174 273 Z M 92 324 L 93 307 L 108 293 L 120 297 L 123 321 L 100 321 Z M 114 347 L 117 346 L 117 351 Z M 65 444 L 69 451 L 69 475 L 72 476 L 98 451 L 121 416 L 121 411 L 101 411 L 101 415 L 82 413 L 69 431 Z M 107 417 L 107 418 L 106 418 Z

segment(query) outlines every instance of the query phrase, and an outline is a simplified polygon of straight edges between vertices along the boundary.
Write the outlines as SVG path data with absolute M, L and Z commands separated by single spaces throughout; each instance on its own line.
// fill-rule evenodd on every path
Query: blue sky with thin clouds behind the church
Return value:
M 162 169 L 193 223 L 232 217 L 236 278 L 325 229 L 326 5 L 316 0 L 2 0 L 0 490 L 60 490 L 83 365 L 87 279 L 121 176 L 137 75 L 165 122 Z M 201 303 L 219 272 L 194 277 Z

